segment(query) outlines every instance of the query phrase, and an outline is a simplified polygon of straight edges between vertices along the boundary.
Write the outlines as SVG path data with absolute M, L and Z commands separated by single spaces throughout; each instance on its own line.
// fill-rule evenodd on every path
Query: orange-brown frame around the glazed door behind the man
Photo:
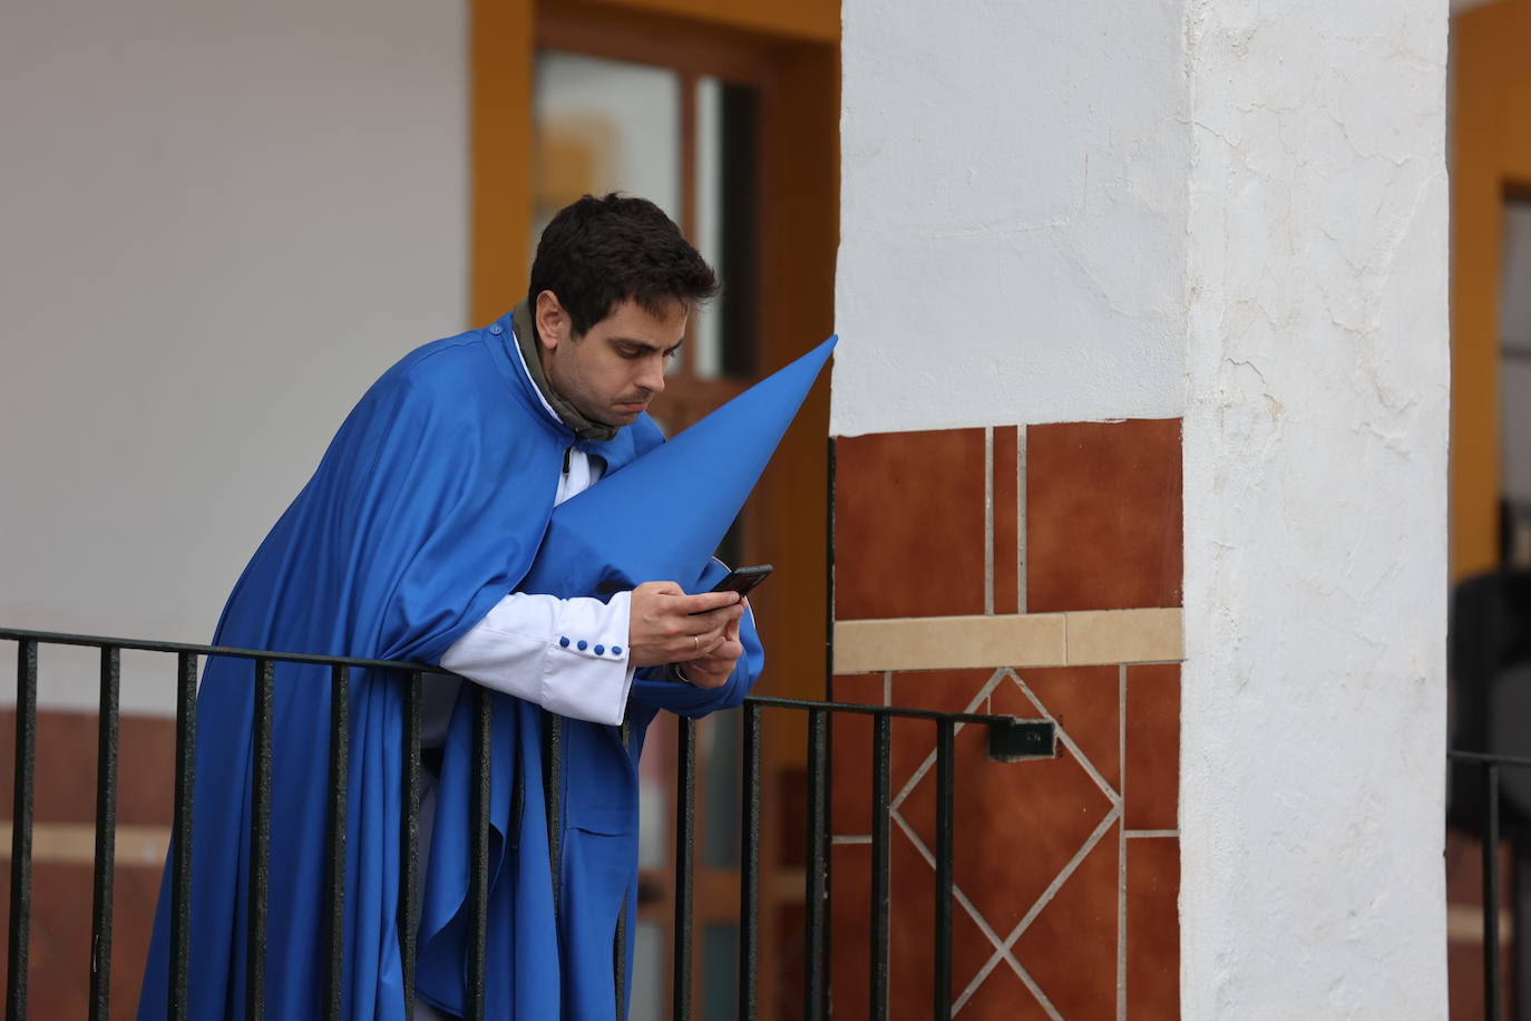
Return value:
M 837 0 L 804 0 L 770 11 L 709 6 L 701 0 L 473 0 L 472 323 L 498 318 L 525 294 L 537 49 L 641 60 L 641 47 L 648 46 L 663 51 L 666 66 L 759 89 L 761 373 L 833 332 L 839 243 Z M 769 651 L 767 675 L 756 689 L 762 693 L 827 695 L 827 377 L 810 393 L 752 497 L 756 513 L 747 545 L 776 565 L 772 585 L 752 599 Z M 802 850 L 782 839 L 784 801 L 801 790 L 796 781 L 805 765 L 807 727 L 798 716 L 769 713 L 764 719 L 761 1016 L 776 1016 L 770 963 L 782 925 L 779 909 L 790 908 L 778 891 L 802 889 Z M 697 892 L 710 899 L 724 891 Z

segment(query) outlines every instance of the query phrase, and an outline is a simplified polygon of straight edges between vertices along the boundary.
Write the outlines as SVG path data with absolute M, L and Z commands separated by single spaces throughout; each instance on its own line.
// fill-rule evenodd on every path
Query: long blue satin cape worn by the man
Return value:
M 407 355 L 361 398 L 314 478 L 234 586 L 214 643 L 386 660 L 442 652 L 527 580 L 548 527 L 563 452 L 603 458 L 612 475 L 661 442 L 646 416 L 608 442 L 554 422 L 511 351 L 511 317 Z M 717 565 L 677 577 L 710 585 Z M 589 592 L 553 592 L 586 595 Z M 746 618 L 746 623 L 749 618 Z M 490 834 L 488 1016 L 609 1019 L 614 934 L 635 917 L 637 779 L 658 709 L 704 715 L 743 701 L 762 655 L 746 628 L 729 683 L 700 690 L 646 677 L 617 727 L 565 721 L 563 862 L 554 918 L 542 791 L 542 710 L 495 693 Z M 398 940 L 400 677 L 354 670 L 346 817 L 344 1016 L 404 1016 Z M 190 1016 L 245 1016 L 253 667 L 213 657 L 197 695 L 191 873 Z M 423 877 L 418 995 L 452 1013 L 465 1000 L 470 692 L 464 684 L 436 790 Z M 323 1003 L 325 822 L 329 675 L 277 664 L 266 1016 L 306 1019 Z M 511 817 L 513 791 L 527 793 Z M 623 955 L 631 989 L 632 932 Z M 557 938 L 554 938 L 557 934 Z M 167 1010 L 168 871 L 145 964 L 139 1018 Z

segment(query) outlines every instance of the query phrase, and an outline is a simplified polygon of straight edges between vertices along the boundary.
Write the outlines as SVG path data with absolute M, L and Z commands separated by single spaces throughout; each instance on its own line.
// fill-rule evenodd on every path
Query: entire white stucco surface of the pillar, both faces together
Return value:
M 1444 1016 L 1447 0 L 844 18 L 831 432 L 1183 413 L 1183 1016 Z

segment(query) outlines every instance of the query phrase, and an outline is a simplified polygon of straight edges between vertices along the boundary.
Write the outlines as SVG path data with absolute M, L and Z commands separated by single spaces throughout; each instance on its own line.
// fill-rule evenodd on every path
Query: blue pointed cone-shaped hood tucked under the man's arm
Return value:
M 521 588 L 566 599 L 668 580 L 694 591 L 836 340 L 559 505 Z

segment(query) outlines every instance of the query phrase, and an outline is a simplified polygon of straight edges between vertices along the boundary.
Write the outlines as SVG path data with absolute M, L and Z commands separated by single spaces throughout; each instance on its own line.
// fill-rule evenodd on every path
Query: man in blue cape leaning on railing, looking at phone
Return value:
M 586 196 L 560 211 L 522 306 L 412 352 L 367 390 L 219 623 L 224 646 L 439 663 L 495 689 L 488 1016 L 625 1013 L 628 983 L 612 960 L 619 932 L 631 941 L 634 928 L 619 920 L 635 906 L 643 730 L 658 709 L 738 704 L 759 675 L 759 644 L 733 594 L 687 595 L 666 579 L 609 599 L 524 591 L 554 507 L 661 442 L 646 407 L 664 389 L 687 315 L 715 289 L 652 204 Z M 703 588 L 720 574 L 703 574 Z M 193 1018 L 243 1016 L 250 690 L 248 663 L 208 661 L 197 698 Z M 344 1012 L 393 1019 L 404 1015 L 403 687 L 355 670 L 349 693 Z M 426 695 L 424 744 L 439 752 L 427 756 L 433 788 L 421 820 L 418 990 L 461 1013 L 470 698 L 449 675 L 432 677 Z M 315 1016 L 322 1003 L 328 698 L 326 670 L 277 666 L 268 1018 Z M 548 726 L 563 735 L 559 762 L 544 761 Z M 550 768 L 562 778 L 557 862 L 539 796 Z M 141 1018 L 165 1016 L 168 915 L 167 882 Z

